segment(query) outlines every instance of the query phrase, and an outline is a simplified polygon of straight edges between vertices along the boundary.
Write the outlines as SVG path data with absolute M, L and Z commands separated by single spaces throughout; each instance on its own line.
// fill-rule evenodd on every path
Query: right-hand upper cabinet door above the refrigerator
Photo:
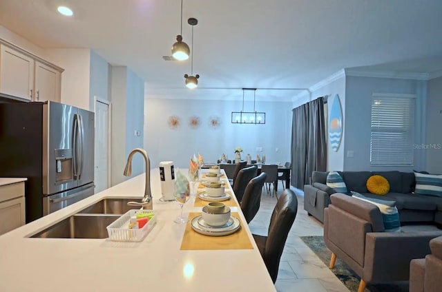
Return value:
M 61 73 L 35 61 L 35 101 L 60 101 Z

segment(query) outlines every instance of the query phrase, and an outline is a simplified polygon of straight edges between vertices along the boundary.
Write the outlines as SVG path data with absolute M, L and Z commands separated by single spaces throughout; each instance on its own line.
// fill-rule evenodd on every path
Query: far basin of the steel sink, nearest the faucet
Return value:
M 78 213 L 89 214 L 124 214 L 132 209 L 140 209 L 140 206 L 128 206 L 128 202 L 139 202 L 140 198 L 104 198 L 94 205 L 82 209 Z

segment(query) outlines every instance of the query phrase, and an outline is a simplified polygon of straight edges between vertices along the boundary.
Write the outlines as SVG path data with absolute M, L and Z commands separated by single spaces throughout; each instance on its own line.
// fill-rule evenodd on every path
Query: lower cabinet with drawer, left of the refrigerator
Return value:
M 0 235 L 25 225 L 25 183 L 0 185 Z

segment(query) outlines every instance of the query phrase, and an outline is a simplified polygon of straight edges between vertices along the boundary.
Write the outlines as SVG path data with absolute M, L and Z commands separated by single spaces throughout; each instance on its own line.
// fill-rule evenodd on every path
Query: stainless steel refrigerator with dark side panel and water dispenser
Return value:
M 0 177 L 24 177 L 26 222 L 93 195 L 94 113 L 0 103 Z

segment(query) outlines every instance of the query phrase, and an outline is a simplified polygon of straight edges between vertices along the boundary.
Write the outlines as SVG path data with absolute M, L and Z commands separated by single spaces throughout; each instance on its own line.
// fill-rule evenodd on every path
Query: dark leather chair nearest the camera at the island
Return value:
M 282 192 L 271 214 L 267 236 L 253 234 L 273 283 L 278 278 L 278 268 L 289 231 L 298 211 L 298 199 L 291 189 Z

